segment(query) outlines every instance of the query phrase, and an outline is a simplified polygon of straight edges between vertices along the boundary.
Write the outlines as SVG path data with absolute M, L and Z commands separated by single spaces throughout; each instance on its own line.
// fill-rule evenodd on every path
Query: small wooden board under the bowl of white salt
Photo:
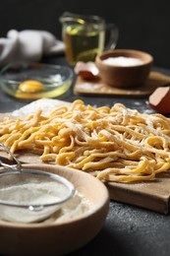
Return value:
M 114 88 L 106 85 L 100 78 L 93 80 L 85 80 L 78 77 L 74 87 L 75 95 L 88 96 L 149 96 L 157 87 L 161 87 L 170 83 L 170 77 L 159 72 L 150 72 L 143 86 L 133 89 Z

